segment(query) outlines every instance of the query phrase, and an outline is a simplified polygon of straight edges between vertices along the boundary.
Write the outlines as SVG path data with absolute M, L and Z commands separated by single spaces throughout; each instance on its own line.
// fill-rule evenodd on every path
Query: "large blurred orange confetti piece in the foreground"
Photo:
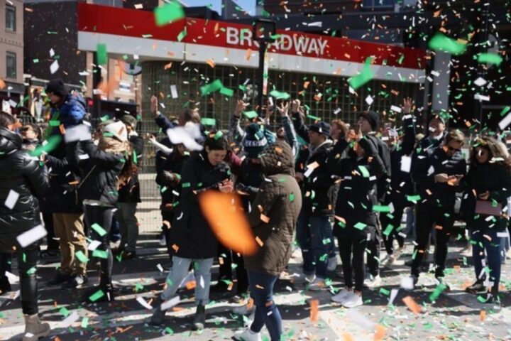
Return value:
M 238 195 L 207 191 L 199 195 L 199 205 L 219 242 L 241 254 L 258 249 Z

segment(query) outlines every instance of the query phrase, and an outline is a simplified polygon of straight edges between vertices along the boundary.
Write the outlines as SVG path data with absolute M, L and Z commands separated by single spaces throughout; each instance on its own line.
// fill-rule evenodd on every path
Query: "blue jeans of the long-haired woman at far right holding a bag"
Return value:
M 483 261 L 486 258 L 488 260 L 488 268 L 490 269 L 489 281 L 493 282 L 491 292 L 495 295 L 498 293 L 500 281 L 500 237 L 497 237 L 495 229 L 478 229 L 476 226 L 469 228 L 471 229 L 472 256 L 476 278 L 480 280 L 486 279 L 487 274 L 483 271 Z M 491 240 L 484 237 L 485 235 L 490 237 Z M 481 271 L 483 271 L 482 275 Z

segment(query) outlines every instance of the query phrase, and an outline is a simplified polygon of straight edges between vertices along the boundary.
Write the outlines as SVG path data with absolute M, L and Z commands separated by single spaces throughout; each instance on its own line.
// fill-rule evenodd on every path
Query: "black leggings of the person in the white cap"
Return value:
M 110 227 L 112 217 L 114 217 L 114 207 L 84 205 L 84 217 L 85 222 L 89 227 L 90 237 L 93 240 L 101 242 L 99 247 L 97 247 L 97 250 L 106 252 L 106 258 L 99 256 L 100 254 L 103 255 L 102 252 L 98 253 L 96 256 L 101 262 L 99 285 L 110 288 L 111 271 L 114 264 L 114 257 L 110 250 Z M 100 236 L 96 229 L 92 227 L 94 224 L 98 224 L 106 231 L 106 233 L 103 236 Z M 94 256 L 94 252 L 92 253 L 92 256 Z

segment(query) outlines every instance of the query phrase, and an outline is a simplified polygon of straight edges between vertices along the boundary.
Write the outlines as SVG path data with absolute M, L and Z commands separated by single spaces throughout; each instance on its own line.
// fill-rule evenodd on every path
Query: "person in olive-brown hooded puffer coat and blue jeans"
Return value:
M 288 144 L 277 141 L 275 146 L 268 147 L 260 156 L 260 166 L 268 180 L 263 181 L 255 195 L 248 222 L 261 247 L 255 254 L 243 256 L 255 314 L 251 325 L 236 332 L 234 339 L 259 341 L 260 331 L 266 325 L 270 340 L 278 341 L 282 335 L 282 318 L 273 298 L 273 288 L 290 260 L 302 196 Z

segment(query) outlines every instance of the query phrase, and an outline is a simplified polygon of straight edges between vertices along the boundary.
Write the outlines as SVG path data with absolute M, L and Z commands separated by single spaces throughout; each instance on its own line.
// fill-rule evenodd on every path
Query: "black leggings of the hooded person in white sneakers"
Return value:
M 368 245 L 367 239 L 337 238 L 339 254 L 344 273 L 344 284 L 353 288 L 353 271 L 355 272 L 355 290 L 362 291 L 363 281 L 366 278 L 366 265 L 363 261 L 364 252 Z M 369 255 L 370 256 L 370 255 Z

